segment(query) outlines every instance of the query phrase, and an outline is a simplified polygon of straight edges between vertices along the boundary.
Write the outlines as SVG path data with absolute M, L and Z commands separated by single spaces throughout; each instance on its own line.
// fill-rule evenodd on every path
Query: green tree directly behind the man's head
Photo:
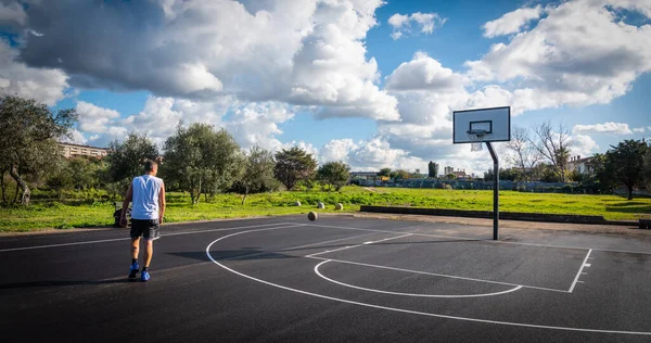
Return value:
M 110 143 L 110 148 L 111 152 L 106 155 L 108 176 L 112 182 L 124 183 L 123 188 L 133 177 L 142 175 L 145 160 L 154 161 L 158 157 L 158 148 L 146 135 L 129 134 L 124 142 L 115 140 Z

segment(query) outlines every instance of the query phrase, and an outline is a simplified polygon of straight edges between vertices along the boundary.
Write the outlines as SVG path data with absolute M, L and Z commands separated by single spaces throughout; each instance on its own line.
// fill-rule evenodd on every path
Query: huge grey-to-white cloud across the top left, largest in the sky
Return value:
M 63 69 L 79 88 L 192 101 L 228 94 L 395 120 L 396 101 L 375 85 L 378 65 L 363 43 L 383 3 L 40 1 L 25 10 L 39 35 L 22 37 L 20 56 Z

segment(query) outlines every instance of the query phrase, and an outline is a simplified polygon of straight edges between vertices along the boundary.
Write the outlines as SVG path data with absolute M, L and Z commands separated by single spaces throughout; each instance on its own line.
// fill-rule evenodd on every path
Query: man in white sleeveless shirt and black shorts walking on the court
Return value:
M 153 161 L 144 163 L 144 175 L 133 178 L 123 202 L 120 224 L 127 227 L 127 208 L 131 206 L 131 268 L 129 280 L 135 280 L 139 271 L 138 252 L 140 238 L 146 242 L 144 266 L 140 274 L 142 281 L 150 280 L 149 265 L 154 254 L 154 240 L 161 238 L 158 228 L 165 216 L 165 185 L 156 177 L 158 164 Z

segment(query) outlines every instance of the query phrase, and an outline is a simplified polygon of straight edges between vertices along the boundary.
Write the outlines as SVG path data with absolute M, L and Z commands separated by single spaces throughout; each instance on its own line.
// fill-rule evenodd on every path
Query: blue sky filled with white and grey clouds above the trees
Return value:
M 163 144 L 182 119 L 354 169 L 481 173 L 454 110 L 563 123 L 574 155 L 651 136 L 650 16 L 648 0 L 1 0 L 0 92 L 76 107 L 78 143 Z

